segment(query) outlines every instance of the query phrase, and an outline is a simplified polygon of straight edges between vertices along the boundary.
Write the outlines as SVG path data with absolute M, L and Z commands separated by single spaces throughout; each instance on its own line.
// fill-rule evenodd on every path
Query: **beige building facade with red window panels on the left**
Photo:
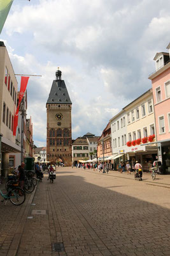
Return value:
M 17 108 L 18 84 L 10 57 L 3 42 L 0 42 L 0 134 L 1 175 L 10 169 L 10 154 L 20 152 L 13 136 L 13 118 Z

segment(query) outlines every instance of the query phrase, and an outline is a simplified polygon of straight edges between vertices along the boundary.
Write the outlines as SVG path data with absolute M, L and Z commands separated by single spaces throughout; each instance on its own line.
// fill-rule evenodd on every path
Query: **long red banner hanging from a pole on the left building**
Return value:
M 19 95 L 19 100 L 18 100 L 18 106 L 17 110 L 15 112 L 15 116 L 13 118 L 13 135 L 16 136 L 16 131 L 17 131 L 17 126 L 18 126 L 18 113 L 19 113 L 19 108 L 20 108 L 20 102 L 22 98 L 24 97 L 25 90 L 27 88 L 27 83 L 28 83 L 29 77 L 27 76 L 22 76 L 21 81 L 20 81 L 20 95 Z

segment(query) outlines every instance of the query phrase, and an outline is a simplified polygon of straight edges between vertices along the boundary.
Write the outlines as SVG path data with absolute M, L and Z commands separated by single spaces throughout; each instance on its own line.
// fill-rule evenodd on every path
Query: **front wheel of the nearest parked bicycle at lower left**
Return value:
M 10 201 L 14 205 L 21 205 L 25 201 L 25 193 L 21 188 L 14 188 L 10 191 Z

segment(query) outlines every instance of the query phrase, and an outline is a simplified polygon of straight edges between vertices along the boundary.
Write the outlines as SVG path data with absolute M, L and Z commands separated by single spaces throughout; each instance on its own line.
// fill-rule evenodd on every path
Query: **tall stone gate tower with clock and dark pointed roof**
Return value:
M 55 162 L 62 159 L 65 166 L 71 166 L 71 100 L 62 72 L 55 72 L 50 95 L 46 102 L 46 157 Z

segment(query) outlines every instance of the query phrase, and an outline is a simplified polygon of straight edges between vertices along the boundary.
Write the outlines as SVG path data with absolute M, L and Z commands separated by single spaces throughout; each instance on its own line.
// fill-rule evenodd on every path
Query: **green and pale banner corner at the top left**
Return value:
M 4 26 L 4 22 L 10 12 L 13 0 L 0 0 L 0 34 Z

